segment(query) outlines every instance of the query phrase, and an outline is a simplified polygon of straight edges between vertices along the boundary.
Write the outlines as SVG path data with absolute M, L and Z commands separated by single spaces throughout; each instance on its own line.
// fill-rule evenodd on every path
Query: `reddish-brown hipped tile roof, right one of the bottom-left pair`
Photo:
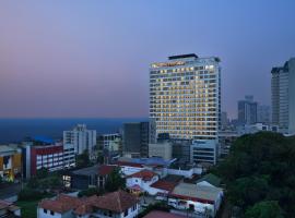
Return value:
M 122 213 L 139 202 L 138 197 L 125 191 L 117 191 L 98 196 L 93 206 L 115 213 Z

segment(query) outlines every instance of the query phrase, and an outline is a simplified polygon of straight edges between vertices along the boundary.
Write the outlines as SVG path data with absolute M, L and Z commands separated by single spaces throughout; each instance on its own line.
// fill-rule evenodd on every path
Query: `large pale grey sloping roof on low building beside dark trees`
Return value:
M 222 193 L 223 191 L 220 187 L 182 182 L 174 189 L 170 195 L 192 201 L 214 203 Z

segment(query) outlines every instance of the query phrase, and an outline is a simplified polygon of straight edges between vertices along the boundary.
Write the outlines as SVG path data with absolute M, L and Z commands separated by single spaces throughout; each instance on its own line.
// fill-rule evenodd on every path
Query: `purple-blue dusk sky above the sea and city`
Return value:
M 295 56 L 294 0 L 1 1 L 1 118 L 149 116 L 149 65 L 222 62 L 222 107 L 270 105 L 270 71 Z

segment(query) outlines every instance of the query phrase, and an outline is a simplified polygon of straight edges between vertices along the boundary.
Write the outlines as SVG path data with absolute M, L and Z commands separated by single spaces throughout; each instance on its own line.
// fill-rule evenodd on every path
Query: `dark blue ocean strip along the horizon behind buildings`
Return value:
M 148 118 L 67 118 L 67 119 L 0 119 L 0 143 L 17 143 L 24 137 L 47 136 L 54 140 L 62 138 L 62 131 L 71 130 L 79 123 L 84 123 L 97 134 L 116 133 L 126 122 L 148 121 Z

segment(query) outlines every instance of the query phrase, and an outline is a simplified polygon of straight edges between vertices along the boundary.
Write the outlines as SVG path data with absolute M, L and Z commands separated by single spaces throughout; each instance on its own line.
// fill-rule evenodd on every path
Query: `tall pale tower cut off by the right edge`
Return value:
M 295 134 L 295 58 L 271 71 L 272 122 L 284 134 Z

